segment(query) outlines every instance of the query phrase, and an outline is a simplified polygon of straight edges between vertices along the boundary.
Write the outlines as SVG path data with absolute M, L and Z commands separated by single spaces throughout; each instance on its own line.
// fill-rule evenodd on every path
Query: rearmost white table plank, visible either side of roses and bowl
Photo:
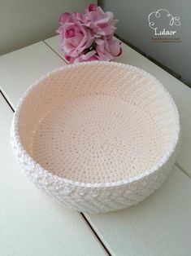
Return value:
M 59 49 L 59 36 L 47 39 L 46 44 L 64 59 L 63 51 Z M 177 163 L 191 176 L 191 89 L 137 51 L 134 51 L 131 47 L 122 43 L 122 48 L 123 54 L 116 58 L 115 61 L 137 66 L 154 75 L 163 83 L 175 100 L 180 112 L 182 134 L 182 143 Z

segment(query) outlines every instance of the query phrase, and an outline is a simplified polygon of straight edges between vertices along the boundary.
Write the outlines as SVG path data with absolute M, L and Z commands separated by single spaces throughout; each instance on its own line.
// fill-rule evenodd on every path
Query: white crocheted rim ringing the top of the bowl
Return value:
M 171 103 L 171 107 L 175 113 L 176 129 L 175 129 L 175 136 L 174 136 L 173 142 L 171 143 L 171 147 L 167 150 L 167 152 L 164 154 L 164 156 L 161 157 L 159 159 L 159 161 L 154 164 L 154 166 L 151 169 L 145 170 L 144 173 L 137 174 L 136 176 L 130 177 L 128 179 L 122 179 L 122 180 L 115 181 L 115 182 L 83 183 L 83 182 L 75 181 L 72 179 L 60 177 L 57 174 L 53 174 L 49 170 L 46 170 L 44 167 L 42 167 L 40 164 L 38 164 L 37 161 L 35 161 L 33 159 L 33 157 L 29 156 L 28 152 L 24 149 L 23 143 L 21 143 L 21 140 L 20 140 L 20 134 L 19 134 L 19 129 L 18 129 L 19 115 L 20 115 L 20 109 L 22 108 L 22 105 L 24 103 L 24 99 L 26 99 L 26 97 L 35 88 L 35 86 L 37 86 L 41 81 L 43 81 L 47 77 L 50 77 L 54 73 L 59 73 L 60 71 L 67 69 L 67 68 L 76 68 L 76 67 L 82 66 L 82 65 L 97 65 L 97 64 L 98 65 L 112 65 L 112 66 L 117 66 L 119 68 L 127 68 L 128 70 L 133 70 L 137 73 L 140 73 L 144 77 L 148 77 L 148 78 L 152 79 L 158 86 L 160 86 L 160 88 L 163 90 L 163 92 L 167 95 L 167 99 Z M 172 97 L 169 94 L 169 92 L 167 91 L 167 89 L 163 86 L 163 84 L 161 82 L 159 82 L 156 77 L 154 77 L 150 73 L 147 73 L 146 71 L 144 71 L 141 68 L 137 68 L 137 67 L 129 65 L 129 64 L 122 64 L 119 62 L 112 62 L 112 61 L 109 62 L 109 61 L 95 60 L 95 61 L 82 62 L 82 63 L 78 63 L 78 64 L 68 64 L 68 65 L 64 65 L 60 68 L 55 68 L 54 70 L 50 71 L 49 73 L 46 73 L 45 75 L 41 76 L 36 82 L 34 82 L 31 86 L 29 86 L 28 90 L 26 90 L 24 92 L 24 95 L 21 96 L 19 103 L 17 104 L 17 107 L 15 109 L 14 117 L 13 117 L 12 123 L 11 123 L 11 145 L 12 145 L 12 148 L 15 151 L 15 155 L 18 155 L 18 152 L 19 152 L 19 155 L 24 157 L 24 161 L 29 163 L 29 165 L 28 165 L 29 169 L 30 169 L 30 166 L 33 166 L 33 170 L 38 170 L 38 172 L 41 173 L 42 176 L 45 175 L 45 176 L 48 176 L 49 179 L 52 179 L 59 183 L 71 184 L 71 185 L 74 185 L 74 186 L 80 187 L 80 188 L 81 187 L 83 187 L 83 188 L 117 187 L 117 186 L 121 186 L 124 184 L 135 182 L 135 181 L 142 179 L 150 174 L 153 174 L 155 171 L 162 168 L 165 165 L 165 163 L 169 160 L 169 158 L 171 157 L 173 152 L 176 151 L 176 148 L 177 148 L 178 142 L 179 142 L 179 138 L 180 138 L 180 115 L 178 113 L 178 109 L 176 107 L 174 100 L 172 99 Z M 20 158 L 20 157 L 18 157 L 18 158 Z

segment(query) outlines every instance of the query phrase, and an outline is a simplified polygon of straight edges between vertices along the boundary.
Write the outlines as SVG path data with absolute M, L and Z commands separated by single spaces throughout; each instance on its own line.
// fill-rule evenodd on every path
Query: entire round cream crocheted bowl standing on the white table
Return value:
M 46 74 L 20 99 L 11 143 L 29 179 L 67 208 L 124 209 L 154 192 L 175 162 L 176 105 L 149 73 L 87 62 Z

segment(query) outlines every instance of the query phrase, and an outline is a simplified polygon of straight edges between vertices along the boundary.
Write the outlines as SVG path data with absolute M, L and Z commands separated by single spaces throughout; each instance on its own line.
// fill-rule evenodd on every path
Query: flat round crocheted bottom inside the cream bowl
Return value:
M 33 158 L 60 177 L 105 183 L 135 177 L 163 155 L 137 104 L 110 95 L 63 101 L 39 121 Z

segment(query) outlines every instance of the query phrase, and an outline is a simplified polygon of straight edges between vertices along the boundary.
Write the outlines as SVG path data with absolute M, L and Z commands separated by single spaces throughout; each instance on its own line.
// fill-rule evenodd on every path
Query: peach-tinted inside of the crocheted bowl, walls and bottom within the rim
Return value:
M 176 137 L 175 108 L 163 87 L 112 63 L 52 73 L 24 98 L 18 120 L 24 149 L 37 163 L 84 183 L 145 173 Z

